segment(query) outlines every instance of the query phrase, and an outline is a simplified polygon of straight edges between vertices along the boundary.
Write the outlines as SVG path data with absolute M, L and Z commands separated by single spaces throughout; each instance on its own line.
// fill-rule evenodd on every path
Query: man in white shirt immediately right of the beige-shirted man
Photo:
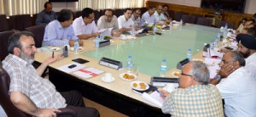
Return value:
M 134 25 L 131 20 L 132 10 L 131 8 L 125 8 L 124 15 L 119 16 L 119 31 L 131 31 Z

